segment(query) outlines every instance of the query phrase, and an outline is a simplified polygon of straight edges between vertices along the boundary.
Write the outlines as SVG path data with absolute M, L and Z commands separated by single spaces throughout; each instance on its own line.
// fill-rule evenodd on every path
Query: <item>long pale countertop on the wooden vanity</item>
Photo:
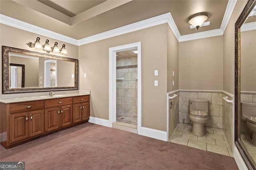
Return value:
M 63 95 L 54 95 L 52 97 L 50 97 L 50 96 L 35 96 L 35 97 L 20 97 L 20 98 L 14 98 L 14 99 L 0 99 L 0 103 L 18 103 L 18 102 L 24 102 L 24 101 L 47 100 L 47 99 L 84 96 L 84 95 L 90 95 L 90 93 L 70 93 L 70 94 L 63 94 Z

